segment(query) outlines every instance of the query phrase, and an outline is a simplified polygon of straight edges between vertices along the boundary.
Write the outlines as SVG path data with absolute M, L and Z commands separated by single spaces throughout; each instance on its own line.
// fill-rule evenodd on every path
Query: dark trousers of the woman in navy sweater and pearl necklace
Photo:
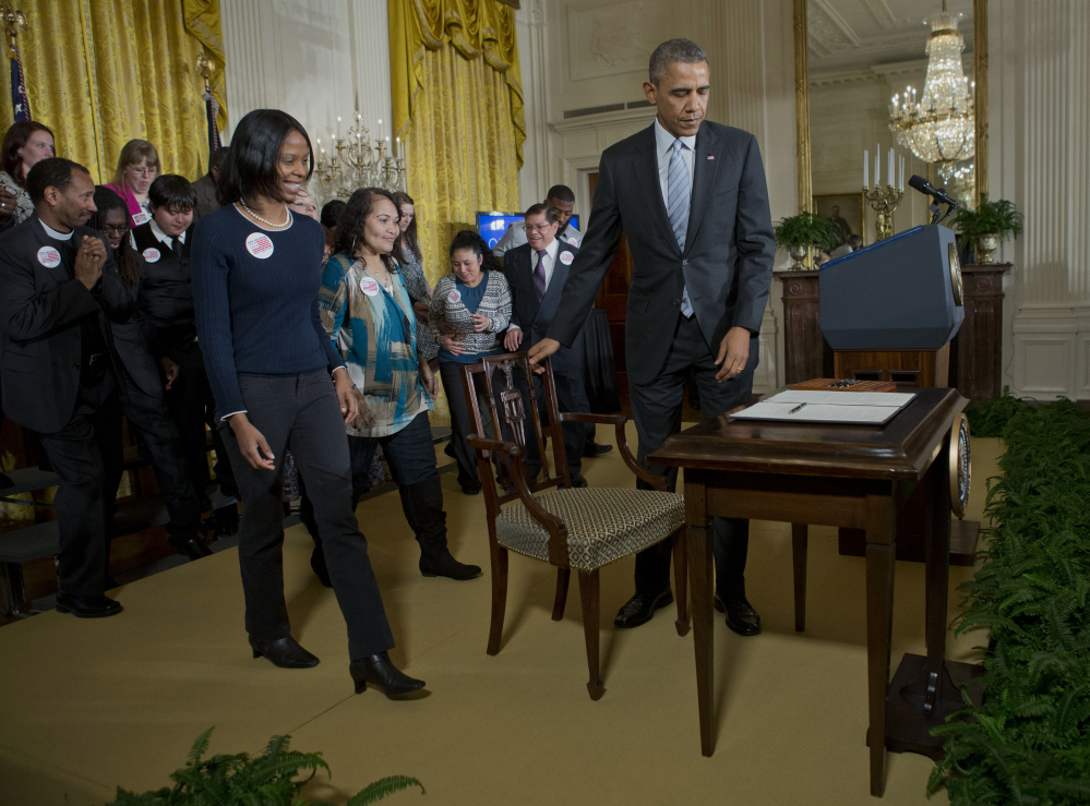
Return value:
M 309 482 L 314 518 L 330 578 L 348 625 L 352 660 L 394 647 L 394 636 L 351 508 L 352 479 L 340 404 L 325 370 L 303 375 L 240 375 L 250 422 L 268 443 L 276 468 L 255 470 L 242 458 L 233 432 L 224 442 L 242 494 L 239 566 L 245 593 L 245 628 L 256 638 L 290 635 L 284 602 L 284 452 L 290 450 Z

